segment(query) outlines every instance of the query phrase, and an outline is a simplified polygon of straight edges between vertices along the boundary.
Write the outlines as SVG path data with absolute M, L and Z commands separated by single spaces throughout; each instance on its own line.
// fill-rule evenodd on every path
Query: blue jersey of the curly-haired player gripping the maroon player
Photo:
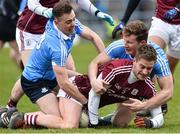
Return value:
M 170 75 L 171 72 L 169 69 L 168 60 L 164 51 L 155 43 L 149 42 L 148 44 L 151 45 L 157 52 L 157 61 L 154 64 L 153 70 L 151 72 L 151 78 L 153 78 L 154 75 L 156 75 L 158 78 Z M 112 42 L 106 48 L 106 53 L 111 59 L 133 59 L 133 57 L 130 54 L 127 54 L 125 51 L 124 40 Z

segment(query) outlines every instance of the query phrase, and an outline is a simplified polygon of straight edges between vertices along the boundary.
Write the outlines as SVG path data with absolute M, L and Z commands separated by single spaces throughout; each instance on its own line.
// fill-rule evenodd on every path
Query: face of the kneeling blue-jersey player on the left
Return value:
M 75 27 L 75 13 L 72 10 L 70 14 L 64 14 L 55 20 L 57 27 L 61 32 L 69 36 L 74 31 Z

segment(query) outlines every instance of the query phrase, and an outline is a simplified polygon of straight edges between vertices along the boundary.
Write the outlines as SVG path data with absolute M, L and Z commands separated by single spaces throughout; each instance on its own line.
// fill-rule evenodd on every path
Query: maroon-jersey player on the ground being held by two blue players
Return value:
M 106 92 L 101 96 L 91 93 L 90 81 L 87 75 L 78 75 L 70 78 L 79 91 L 88 98 L 90 123 L 93 123 L 97 111 L 108 104 L 122 103 L 134 99 L 149 99 L 156 95 L 155 87 L 149 78 L 153 65 L 156 62 L 156 51 L 150 45 L 142 45 L 138 48 L 134 61 L 114 60 L 105 64 L 99 71 L 99 80 L 106 84 Z M 91 91 L 91 92 L 90 92 Z M 90 92 L 90 93 L 89 93 Z M 59 110 L 61 117 L 34 113 L 14 113 L 11 117 L 10 128 L 22 128 L 27 125 L 40 125 L 48 128 L 77 128 L 81 115 L 82 104 L 69 96 L 61 89 L 58 93 Z M 99 100 L 99 102 L 98 102 Z M 92 110 L 93 109 L 93 110 Z M 97 109 L 96 109 L 97 110 Z M 93 116 L 92 116 L 93 114 Z M 117 109 L 114 117 L 114 125 L 126 126 L 133 117 L 133 112 Z M 164 123 L 160 107 L 151 109 L 152 118 L 136 117 L 134 122 L 137 127 L 158 128 Z

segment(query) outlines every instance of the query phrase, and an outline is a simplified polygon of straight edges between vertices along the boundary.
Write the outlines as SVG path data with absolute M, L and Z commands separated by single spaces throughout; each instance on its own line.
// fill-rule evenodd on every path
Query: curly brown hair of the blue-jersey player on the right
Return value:
M 145 40 L 147 41 L 148 37 L 148 28 L 146 25 L 140 21 L 135 20 L 129 22 L 124 28 L 123 28 L 123 34 L 125 36 L 135 35 L 137 36 L 136 40 L 138 42 Z

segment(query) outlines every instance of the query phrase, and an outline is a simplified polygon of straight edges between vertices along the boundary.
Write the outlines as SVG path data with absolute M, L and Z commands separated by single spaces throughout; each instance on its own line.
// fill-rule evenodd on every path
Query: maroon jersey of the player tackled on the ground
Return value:
M 123 102 L 127 98 L 149 99 L 156 94 L 155 86 L 150 78 L 138 80 L 131 84 L 128 82 L 132 64 L 132 61 L 118 59 L 102 67 L 102 79 L 108 82 L 109 86 L 107 92 L 101 96 L 100 107 Z M 79 91 L 88 98 L 91 89 L 88 76 L 76 76 L 74 83 Z

